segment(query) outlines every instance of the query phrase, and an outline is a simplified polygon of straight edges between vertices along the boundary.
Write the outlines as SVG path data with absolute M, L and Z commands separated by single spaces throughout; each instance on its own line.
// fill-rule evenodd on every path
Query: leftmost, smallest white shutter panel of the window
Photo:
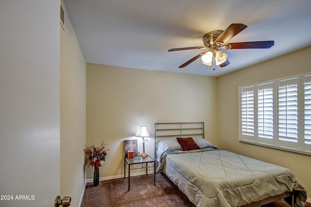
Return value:
M 254 135 L 254 87 L 241 91 L 242 134 Z

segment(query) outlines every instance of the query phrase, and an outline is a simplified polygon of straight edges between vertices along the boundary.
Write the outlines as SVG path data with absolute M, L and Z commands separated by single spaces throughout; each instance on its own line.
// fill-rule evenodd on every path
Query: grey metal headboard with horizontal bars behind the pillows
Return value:
M 204 137 L 204 122 L 165 122 L 155 123 L 155 162 L 157 162 L 157 143 L 161 139 L 176 137 Z

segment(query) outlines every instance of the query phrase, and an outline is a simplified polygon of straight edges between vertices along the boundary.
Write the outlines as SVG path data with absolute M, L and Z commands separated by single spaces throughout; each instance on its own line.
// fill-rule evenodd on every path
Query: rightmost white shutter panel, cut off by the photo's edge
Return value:
M 311 75 L 304 77 L 304 143 L 311 151 Z

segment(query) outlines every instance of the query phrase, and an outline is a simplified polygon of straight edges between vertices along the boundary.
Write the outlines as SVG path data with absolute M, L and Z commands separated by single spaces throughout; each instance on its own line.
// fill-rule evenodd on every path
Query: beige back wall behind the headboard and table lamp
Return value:
M 151 135 L 146 152 L 154 157 L 154 123 L 204 121 L 206 138 L 218 145 L 217 78 L 95 64 L 86 65 L 86 144 L 110 149 L 100 177 L 123 174 L 125 139 L 139 125 Z M 93 176 L 88 169 L 87 179 Z

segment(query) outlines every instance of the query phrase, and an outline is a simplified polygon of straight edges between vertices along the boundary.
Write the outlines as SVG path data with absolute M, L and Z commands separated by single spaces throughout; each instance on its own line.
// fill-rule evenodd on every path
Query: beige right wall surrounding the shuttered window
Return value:
M 238 87 L 311 72 L 311 47 L 254 65 L 218 79 L 219 146 L 228 151 L 291 169 L 311 193 L 311 156 L 238 141 Z M 309 195 L 310 197 L 310 195 Z

